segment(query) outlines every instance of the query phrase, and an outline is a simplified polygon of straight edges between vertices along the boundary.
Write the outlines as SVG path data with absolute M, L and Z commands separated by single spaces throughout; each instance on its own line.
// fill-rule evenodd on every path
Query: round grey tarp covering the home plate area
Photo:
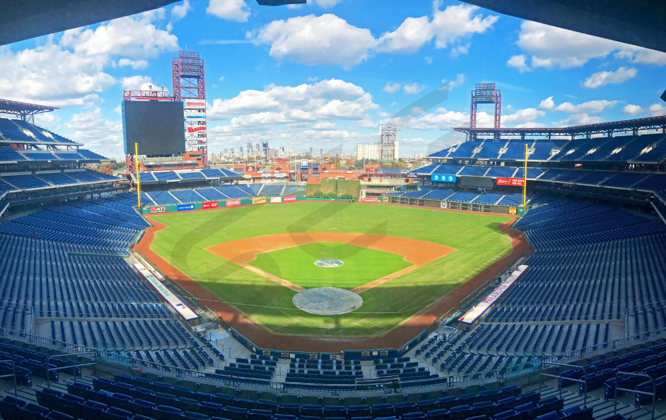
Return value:
M 308 314 L 340 315 L 360 308 L 363 299 L 351 290 L 314 288 L 298 292 L 292 302 Z

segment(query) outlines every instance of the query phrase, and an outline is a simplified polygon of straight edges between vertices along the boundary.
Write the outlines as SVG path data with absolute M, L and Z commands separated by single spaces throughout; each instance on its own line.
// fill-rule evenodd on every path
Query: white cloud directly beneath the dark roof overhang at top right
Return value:
M 521 23 L 516 44 L 523 53 L 531 56 L 532 69 L 537 67 L 546 69 L 581 67 L 587 61 L 602 59 L 613 51 L 615 51 L 615 57 L 629 59 L 632 63 L 666 65 L 666 53 L 533 21 Z M 521 72 L 527 71 L 529 67 L 525 60 L 521 61 L 515 57 L 520 56 L 511 57 L 509 62 L 513 60 L 513 65 L 511 63 L 507 63 L 507 65 Z

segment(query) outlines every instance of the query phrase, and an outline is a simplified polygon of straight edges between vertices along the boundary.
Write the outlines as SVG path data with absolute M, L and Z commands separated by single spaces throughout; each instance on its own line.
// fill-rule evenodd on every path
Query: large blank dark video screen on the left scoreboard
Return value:
M 175 154 L 185 150 L 182 101 L 123 101 L 125 153 Z

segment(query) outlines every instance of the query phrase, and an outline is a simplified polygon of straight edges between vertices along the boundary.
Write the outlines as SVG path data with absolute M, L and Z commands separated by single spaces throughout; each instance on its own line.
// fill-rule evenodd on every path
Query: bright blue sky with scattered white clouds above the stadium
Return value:
M 171 89 L 179 49 L 205 61 L 209 152 L 262 140 L 351 152 L 390 123 L 401 155 L 432 152 L 469 124 L 483 81 L 501 89 L 503 126 L 666 114 L 666 54 L 448 0 L 181 1 L 0 47 L 0 97 L 59 106 L 37 124 L 121 158 L 123 90 Z M 443 86 L 440 104 L 410 105 Z

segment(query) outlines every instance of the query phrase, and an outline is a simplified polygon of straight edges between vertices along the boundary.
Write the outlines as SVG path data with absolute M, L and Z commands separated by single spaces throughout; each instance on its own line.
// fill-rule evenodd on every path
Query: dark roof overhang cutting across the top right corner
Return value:
M 664 0 L 463 0 L 528 21 L 666 52 Z

